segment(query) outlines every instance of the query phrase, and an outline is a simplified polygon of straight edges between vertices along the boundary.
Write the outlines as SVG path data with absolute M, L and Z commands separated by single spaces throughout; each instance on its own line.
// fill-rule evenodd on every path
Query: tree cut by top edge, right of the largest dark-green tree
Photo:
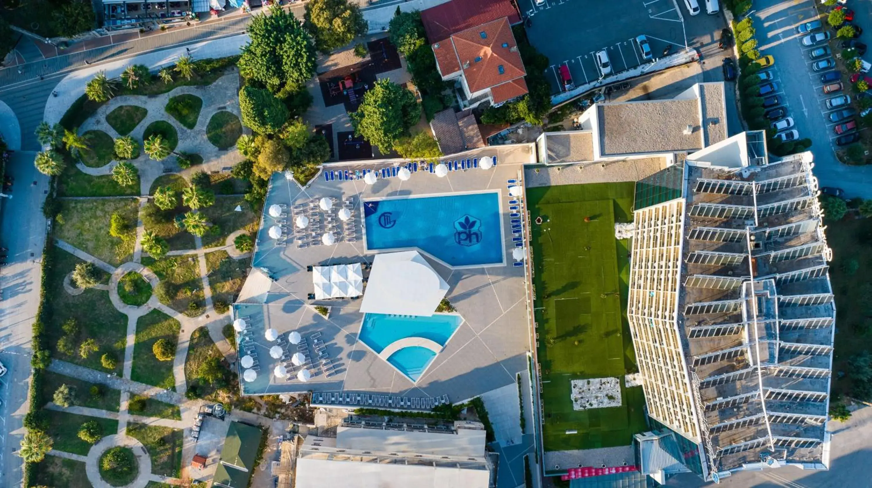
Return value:
M 315 37 L 315 47 L 325 54 L 363 36 L 369 29 L 360 7 L 346 0 L 310 0 L 303 26 Z

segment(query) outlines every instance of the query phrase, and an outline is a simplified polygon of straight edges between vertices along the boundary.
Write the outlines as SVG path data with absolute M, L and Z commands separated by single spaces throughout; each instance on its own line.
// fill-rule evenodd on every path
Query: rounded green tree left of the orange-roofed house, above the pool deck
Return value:
M 390 79 L 376 81 L 364 95 L 357 112 L 349 113 L 355 134 L 362 135 L 384 154 L 409 133 L 421 117 L 415 95 Z

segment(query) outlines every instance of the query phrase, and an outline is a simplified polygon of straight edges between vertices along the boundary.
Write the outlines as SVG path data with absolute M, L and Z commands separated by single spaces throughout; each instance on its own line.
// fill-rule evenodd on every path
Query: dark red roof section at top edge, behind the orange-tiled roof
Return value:
M 433 44 L 502 17 L 508 17 L 510 24 L 521 22 L 511 0 L 452 0 L 421 12 L 427 39 Z

